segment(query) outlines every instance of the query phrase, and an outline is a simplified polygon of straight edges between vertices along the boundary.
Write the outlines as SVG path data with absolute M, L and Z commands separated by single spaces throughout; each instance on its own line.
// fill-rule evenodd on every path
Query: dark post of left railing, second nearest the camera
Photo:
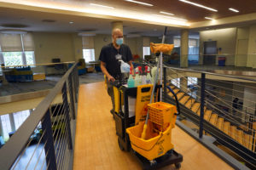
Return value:
M 71 136 L 71 128 L 70 128 L 70 118 L 69 118 L 69 105 L 67 101 L 67 83 L 65 82 L 62 88 L 62 99 L 63 99 L 63 106 L 66 115 L 66 123 L 67 123 L 67 142 L 68 142 L 68 149 L 73 150 L 72 144 L 72 136 Z

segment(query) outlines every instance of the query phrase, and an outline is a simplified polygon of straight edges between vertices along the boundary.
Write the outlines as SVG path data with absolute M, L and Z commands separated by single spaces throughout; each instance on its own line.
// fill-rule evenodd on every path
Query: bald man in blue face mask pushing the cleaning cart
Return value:
M 123 44 L 124 36 L 122 31 L 120 31 L 119 29 L 114 29 L 112 32 L 112 41 L 112 43 L 109 43 L 108 45 L 102 48 L 99 59 L 101 60 L 102 72 L 107 78 L 108 95 L 111 97 L 113 105 L 113 109 L 110 112 L 113 114 L 113 86 L 110 84 L 110 82 L 114 82 L 120 74 L 120 66 L 118 59 L 123 59 L 123 61 L 128 63 L 131 66 L 131 68 L 133 68 L 133 65 L 131 61 L 131 50 L 127 45 Z

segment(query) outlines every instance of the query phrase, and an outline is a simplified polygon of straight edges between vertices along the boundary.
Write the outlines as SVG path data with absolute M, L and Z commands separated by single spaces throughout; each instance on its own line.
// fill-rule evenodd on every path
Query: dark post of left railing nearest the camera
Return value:
M 54 139 L 53 139 L 53 133 L 51 128 L 51 122 L 50 122 L 50 115 L 49 110 L 46 112 L 44 116 L 44 121 L 42 122 L 42 130 L 45 131 L 43 141 L 45 144 L 44 150 L 46 154 L 46 162 L 47 166 L 49 166 L 49 169 L 57 169 L 56 165 L 56 157 L 55 157 L 55 146 L 54 146 Z

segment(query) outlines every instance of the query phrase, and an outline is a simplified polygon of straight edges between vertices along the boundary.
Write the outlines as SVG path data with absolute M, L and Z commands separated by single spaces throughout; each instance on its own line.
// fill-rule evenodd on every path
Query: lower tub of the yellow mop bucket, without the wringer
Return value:
M 168 126 L 164 132 L 152 133 L 152 122 L 148 121 L 146 139 L 141 139 L 144 122 L 137 126 L 126 128 L 131 141 L 131 148 L 149 161 L 164 156 L 168 150 L 172 150 L 172 126 Z

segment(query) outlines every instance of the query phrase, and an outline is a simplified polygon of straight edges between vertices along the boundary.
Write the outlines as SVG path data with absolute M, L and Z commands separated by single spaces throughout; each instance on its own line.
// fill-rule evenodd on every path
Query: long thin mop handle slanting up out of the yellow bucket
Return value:
M 163 35 L 162 43 L 165 42 L 166 31 L 167 31 L 167 26 L 165 27 L 165 32 L 164 32 L 164 35 Z M 152 92 L 151 92 L 151 97 L 150 97 L 150 102 L 149 102 L 149 104 L 152 103 L 152 100 L 153 100 L 153 98 L 154 98 L 154 88 L 155 88 L 155 86 L 156 86 L 156 81 L 157 81 L 157 78 L 158 78 L 159 67 L 160 67 L 160 65 L 161 65 L 161 62 L 160 62 L 160 61 L 161 61 L 162 56 L 163 56 L 163 52 L 160 52 L 160 57 L 159 57 L 159 59 L 158 59 L 156 74 L 155 74 L 155 77 L 154 77 L 154 86 L 153 86 L 153 89 L 152 89 Z M 145 122 L 144 127 L 143 127 L 142 139 L 146 139 L 146 130 L 147 130 L 147 127 L 148 127 L 148 117 L 149 117 L 149 112 L 147 111 L 146 122 Z

